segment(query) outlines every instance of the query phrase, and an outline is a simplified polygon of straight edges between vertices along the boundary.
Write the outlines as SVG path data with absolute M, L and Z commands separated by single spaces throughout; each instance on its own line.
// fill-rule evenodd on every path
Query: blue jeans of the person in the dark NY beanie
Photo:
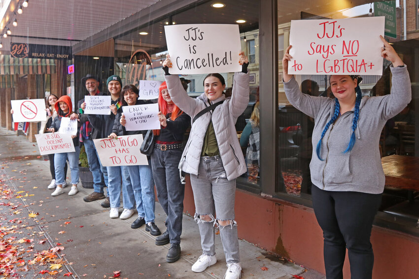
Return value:
M 122 179 L 122 201 L 125 209 L 134 209 L 134 191 L 131 185 L 130 174 L 127 166 L 114 166 L 107 168 L 108 197 L 110 207 L 118 208 L 121 205 L 121 179 Z

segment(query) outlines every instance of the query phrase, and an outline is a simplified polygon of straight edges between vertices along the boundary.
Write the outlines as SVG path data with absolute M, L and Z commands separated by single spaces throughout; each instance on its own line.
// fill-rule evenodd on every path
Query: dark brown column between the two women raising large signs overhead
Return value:
M 260 176 L 262 192 L 273 195 L 278 157 L 278 1 L 260 1 Z

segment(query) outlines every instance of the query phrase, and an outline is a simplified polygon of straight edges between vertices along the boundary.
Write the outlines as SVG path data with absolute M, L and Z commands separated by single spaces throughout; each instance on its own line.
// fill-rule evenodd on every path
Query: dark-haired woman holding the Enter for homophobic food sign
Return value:
M 124 100 L 122 106 L 134 106 L 142 105 L 147 102 L 139 100 L 139 90 L 135 85 L 126 85 L 122 88 L 122 93 Z M 115 122 L 113 124 L 112 133 L 109 137 L 116 138 L 117 136 L 125 135 L 136 135 L 142 133 L 144 136 L 147 131 L 127 131 L 125 129 L 126 120 L 124 114 L 118 112 L 115 117 Z M 131 165 L 126 166 L 128 173 L 131 178 L 132 191 L 134 191 L 134 198 L 136 202 L 138 217 L 131 224 L 131 228 L 136 229 L 145 225 L 145 230 L 150 231 L 151 235 L 157 236 L 161 232 L 157 225 L 154 223 L 154 209 L 155 209 L 155 197 L 154 197 L 154 181 L 153 174 L 151 172 L 151 162 L 150 158 L 148 159 L 148 165 Z M 128 186 L 129 187 L 129 186 Z M 131 191 L 131 189 L 129 189 Z M 131 210 L 131 215 L 133 215 L 134 210 Z

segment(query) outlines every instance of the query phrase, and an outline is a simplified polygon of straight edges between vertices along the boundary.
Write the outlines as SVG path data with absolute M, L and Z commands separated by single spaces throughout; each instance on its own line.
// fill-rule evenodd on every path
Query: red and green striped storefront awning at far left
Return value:
M 13 58 L 0 55 L 0 75 L 53 74 L 56 72 L 56 60 L 37 58 Z

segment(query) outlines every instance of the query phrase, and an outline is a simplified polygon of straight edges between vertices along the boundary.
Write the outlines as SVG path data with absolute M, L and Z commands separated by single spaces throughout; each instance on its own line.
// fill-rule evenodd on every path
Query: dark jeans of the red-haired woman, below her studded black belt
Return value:
M 167 218 L 170 243 L 180 243 L 182 234 L 183 198 L 185 187 L 180 183 L 179 165 L 182 149 L 161 151 L 158 148 L 151 154 L 151 167 L 157 189 L 157 198 Z

